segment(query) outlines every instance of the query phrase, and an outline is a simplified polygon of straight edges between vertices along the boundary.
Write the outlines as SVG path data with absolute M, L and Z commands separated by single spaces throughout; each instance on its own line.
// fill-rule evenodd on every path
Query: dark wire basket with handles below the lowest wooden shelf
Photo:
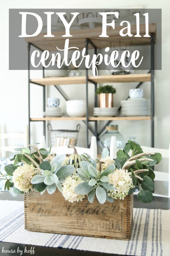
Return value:
M 48 138 L 51 147 L 61 147 L 69 144 L 76 146 L 79 130 L 80 124 L 77 125 L 76 130 L 53 130 L 51 124 L 48 124 Z

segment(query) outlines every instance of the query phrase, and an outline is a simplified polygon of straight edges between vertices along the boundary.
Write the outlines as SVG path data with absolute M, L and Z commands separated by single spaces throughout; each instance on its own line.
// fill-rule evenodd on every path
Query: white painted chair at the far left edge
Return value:
M 12 145 L 7 146 L 6 140 L 12 139 L 12 140 L 23 140 L 22 146 L 21 145 Z M 26 125 L 24 133 L 18 133 L 18 132 L 11 132 L 6 133 L 4 132 L 4 125 L 0 125 L 0 157 L 6 157 L 6 152 L 15 153 L 16 151 L 14 148 L 19 147 L 28 147 L 28 126 Z

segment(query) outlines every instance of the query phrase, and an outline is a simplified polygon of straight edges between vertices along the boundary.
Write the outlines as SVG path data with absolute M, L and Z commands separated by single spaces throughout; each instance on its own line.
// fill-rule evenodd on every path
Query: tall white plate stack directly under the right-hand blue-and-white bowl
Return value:
M 121 116 L 151 115 L 151 100 L 144 98 L 129 98 L 121 100 Z

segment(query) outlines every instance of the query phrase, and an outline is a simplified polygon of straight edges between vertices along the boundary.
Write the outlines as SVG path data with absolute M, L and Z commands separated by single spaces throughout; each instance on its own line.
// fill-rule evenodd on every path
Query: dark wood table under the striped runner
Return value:
M 134 196 L 134 208 L 149 208 L 149 209 L 170 209 L 170 198 L 159 197 L 156 196 L 153 198 L 153 201 L 150 204 L 144 204 L 137 200 L 137 196 Z M 37 237 L 38 239 L 38 237 Z M 0 256 L 19 256 L 19 253 L 2 253 L 2 249 L 5 250 L 23 250 L 22 256 L 30 256 L 30 253 L 24 253 L 25 247 L 27 250 L 30 250 L 31 247 L 34 247 L 34 256 L 105 256 L 105 255 L 113 255 L 117 256 L 118 254 L 108 254 L 108 253 L 100 253 L 100 252 L 89 252 L 89 251 L 80 251 L 73 249 L 63 249 L 63 248 L 52 248 L 52 247 L 44 247 L 44 246 L 36 246 L 36 245 L 27 245 L 27 244 L 13 244 L 13 243 L 0 243 Z M 120 254 L 119 254 L 120 256 Z

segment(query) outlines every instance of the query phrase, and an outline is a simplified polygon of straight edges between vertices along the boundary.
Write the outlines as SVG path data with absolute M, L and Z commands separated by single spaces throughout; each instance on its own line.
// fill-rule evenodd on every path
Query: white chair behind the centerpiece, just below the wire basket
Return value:
M 83 153 L 87 153 L 89 154 L 93 159 L 97 158 L 97 141 L 96 141 L 96 137 L 92 136 L 92 140 L 91 140 L 91 147 L 90 148 L 81 148 L 81 147 L 75 147 L 78 154 L 83 154 Z M 48 148 L 49 149 L 49 148 Z M 57 155 L 61 155 L 61 154 L 73 154 L 73 149 L 72 148 L 68 148 L 67 146 L 63 146 L 63 147 L 52 147 L 51 148 L 51 153 L 55 153 Z

